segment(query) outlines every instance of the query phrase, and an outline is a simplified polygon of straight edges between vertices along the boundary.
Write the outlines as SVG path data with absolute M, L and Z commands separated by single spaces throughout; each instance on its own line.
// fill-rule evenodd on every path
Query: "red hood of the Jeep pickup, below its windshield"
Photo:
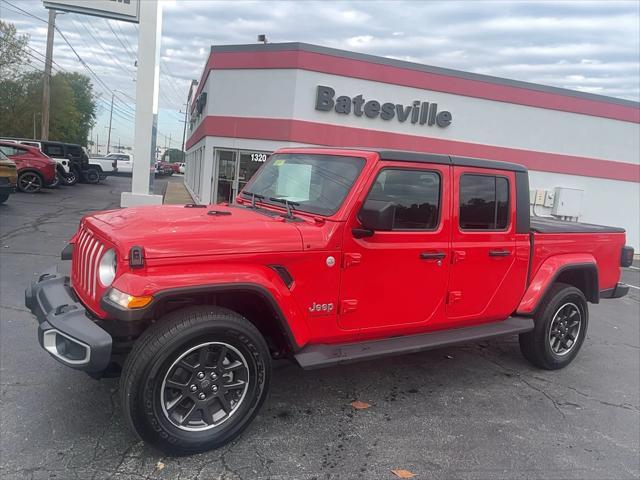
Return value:
M 85 221 L 127 256 L 137 245 L 149 259 L 302 250 L 302 238 L 293 223 L 223 205 L 124 208 L 100 212 Z

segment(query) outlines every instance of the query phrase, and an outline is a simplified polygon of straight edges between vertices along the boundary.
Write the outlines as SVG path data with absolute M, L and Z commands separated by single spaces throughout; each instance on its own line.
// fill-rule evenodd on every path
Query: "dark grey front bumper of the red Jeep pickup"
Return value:
M 38 341 L 68 367 L 102 372 L 111 359 L 112 338 L 88 316 L 68 276 L 52 267 L 25 291 L 25 305 L 38 320 Z

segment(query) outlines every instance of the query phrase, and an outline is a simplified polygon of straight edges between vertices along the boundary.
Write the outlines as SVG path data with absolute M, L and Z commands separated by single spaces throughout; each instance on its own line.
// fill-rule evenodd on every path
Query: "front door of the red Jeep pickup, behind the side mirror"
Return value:
M 449 276 L 449 169 L 384 162 L 373 174 L 371 200 L 395 205 L 391 231 L 356 238 L 354 212 L 343 243 L 339 325 L 377 334 L 427 329 L 445 317 Z

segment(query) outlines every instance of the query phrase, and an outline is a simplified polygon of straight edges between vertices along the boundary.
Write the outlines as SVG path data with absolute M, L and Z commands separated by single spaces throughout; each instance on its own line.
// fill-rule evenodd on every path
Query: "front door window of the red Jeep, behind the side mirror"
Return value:
M 393 230 L 434 230 L 440 217 L 440 175 L 425 170 L 384 169 L 367 199 L 395 205 Z

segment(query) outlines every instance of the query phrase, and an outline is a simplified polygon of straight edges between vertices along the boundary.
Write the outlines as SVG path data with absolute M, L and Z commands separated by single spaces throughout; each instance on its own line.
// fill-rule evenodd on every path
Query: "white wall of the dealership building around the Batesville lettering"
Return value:
M 436 102 L 453 122 L 446 128 L 315 110 L 316 88 L 327 85 L 336 97 L 362 94 L 365 100 L 410 105 L 414 100 Z M 486 99 L 421 90 L 304 70 L 217 70 L 207 80 L 205 115 L 306 120 L 331 125 L 425 135 L 444 140 L 511 147 L 538 152 L 612 160 L 640 165 L 640 125 L 602 117 L 547 110 Z M 197 125 L 196 125 L 197 127 Z M 203 145 L 204 148 L 203 148 Z M 282 141 L 207 137 L 198 150 L 199 178 L 187 177 L 197 201 L 211 201 L 214 148 L 273 151 L 301 145 Z M 518 162 L 517 158 L 513 159 Z M 188 167 L 189 168 L 189 167 Z M 640 168 L 640 166 L 639 166 Z M 191 180 L 189 179 L 191 178 Z M 530 173 L 532 189 L 554 187 L 584 191 L 581 221 L 622 226 L 628 244 L 640 250 L 640 184 L 548 172 Z M 199 184 L 197 188 L 195 184 Z M 540 214 L 550 209 L 537 207 Z

